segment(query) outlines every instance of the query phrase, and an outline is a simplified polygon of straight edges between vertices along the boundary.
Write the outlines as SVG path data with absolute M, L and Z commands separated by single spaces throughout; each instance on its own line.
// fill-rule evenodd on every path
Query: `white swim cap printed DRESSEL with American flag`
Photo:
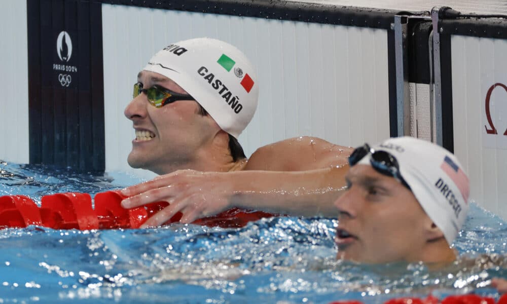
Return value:
M 372 148 L 396 158 L 417 201 L 452 244 L 469 207 L 468 177 L 456 157 L 439 145 L 414 137 L 390 138 Z M 371 157 L 368 154 L 358 163 L 371 165 Z

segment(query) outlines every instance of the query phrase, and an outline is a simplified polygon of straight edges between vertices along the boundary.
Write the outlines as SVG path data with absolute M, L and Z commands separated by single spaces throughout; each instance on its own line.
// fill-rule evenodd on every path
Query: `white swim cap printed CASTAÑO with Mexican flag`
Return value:
M 223 41 L 196 38 L 171 44 L 155 54 L 144 70 L 173 80 L 236 138 L 256 111 L 259 84 L 253 65 Z

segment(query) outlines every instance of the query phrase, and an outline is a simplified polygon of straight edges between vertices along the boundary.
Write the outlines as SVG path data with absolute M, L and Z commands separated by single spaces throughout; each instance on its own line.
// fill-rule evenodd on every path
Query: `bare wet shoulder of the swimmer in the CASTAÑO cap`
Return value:
M 258 148 L 243 170 L 306 171 L 347 165 L 352 148 L 317 137 L 285 139 Z

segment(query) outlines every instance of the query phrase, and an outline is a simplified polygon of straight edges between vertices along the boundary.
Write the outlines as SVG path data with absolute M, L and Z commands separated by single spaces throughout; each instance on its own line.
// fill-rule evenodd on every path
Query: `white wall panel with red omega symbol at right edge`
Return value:
M 507 218 L 503 186 L 507 178 L 507 92 L 497 87 L 490 99 L 498 134 L 487 134 L 486 95 L 496 83 L 507 86 L 505 40 L 452 36 L 454 151 L 470 176 L 470 197 Z

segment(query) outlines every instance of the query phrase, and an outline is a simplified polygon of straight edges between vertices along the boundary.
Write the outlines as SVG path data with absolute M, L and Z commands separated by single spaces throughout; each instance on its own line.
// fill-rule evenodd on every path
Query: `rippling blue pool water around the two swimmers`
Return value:
M 0 162 L 0 196 L 94 195 L 140 180 Z M 337 222 L 275 217 L 240 229 L 171 224 L 159 229 L 0 230 L 0 303 L 328 303 L 474 292 L 498 297 L 507 277 L 503 220 L 473 204 L 454 244 L 461 261 L 440 271 L 419 263 L 358 265 L 335 259 Z M 481 258 L 495 260 L 487 264 Z

